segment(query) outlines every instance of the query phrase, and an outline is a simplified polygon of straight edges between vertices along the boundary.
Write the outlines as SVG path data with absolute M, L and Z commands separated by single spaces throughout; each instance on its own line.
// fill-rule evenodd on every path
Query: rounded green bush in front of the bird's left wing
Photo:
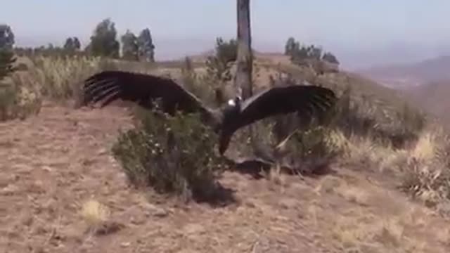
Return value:
M 113 146 L 129 181 L 184 200 L 214 198 L 224 165 L 214 149 L 217 136 L 199 116 L 169 117 L 139 108 L 136 118 L 136 129 L 120 134 Z

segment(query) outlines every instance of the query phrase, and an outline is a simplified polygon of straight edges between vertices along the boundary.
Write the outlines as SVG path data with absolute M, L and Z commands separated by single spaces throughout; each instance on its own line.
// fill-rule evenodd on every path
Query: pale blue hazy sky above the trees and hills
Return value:
M 236 0 L 8 0 L 2 7 L 0 23 L 11 25 L 18 45 L 60 44 L 68 36 L 85 42 L 103 18 L 120 34 L 149 27 L 159 58 L 236 36 Z M 356 52 L 387 57 L 401 50 L 401 58 L 423 58 L 417 48 L 428 57 L 450 42 L 449 0 L 252 0 L 251 11 L 256 49 L 282 51 L 293 36 L 335 51 L 349 65 L 361 57 Z

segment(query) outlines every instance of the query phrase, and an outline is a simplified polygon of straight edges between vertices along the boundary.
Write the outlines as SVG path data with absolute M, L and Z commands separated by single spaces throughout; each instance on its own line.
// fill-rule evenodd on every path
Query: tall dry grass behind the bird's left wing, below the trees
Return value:
M 152 64 L 86 56 L 20 57 L 17 64 L 20 66 L 19 71 L 0 84 L 0 120 L 36 115 L 43 100 L 53 100 L 78 108 L 82 101 L 82 81 L 101 70 L 176 75 L 176 69 L 182 66 L 178 62 L 163 62 L 155 67 Z

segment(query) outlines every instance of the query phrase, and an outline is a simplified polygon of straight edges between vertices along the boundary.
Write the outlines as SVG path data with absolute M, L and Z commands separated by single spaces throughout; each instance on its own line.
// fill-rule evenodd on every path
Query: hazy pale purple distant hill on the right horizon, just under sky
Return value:
M 439 56 L 418 63 L 385 65 L 356 70 L 377 82 L 403 88 L 450 79 L 450 56 Z

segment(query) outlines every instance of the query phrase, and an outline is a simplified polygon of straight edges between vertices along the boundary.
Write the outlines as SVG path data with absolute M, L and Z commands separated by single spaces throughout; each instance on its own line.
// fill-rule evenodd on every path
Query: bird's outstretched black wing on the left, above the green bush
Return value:
M 152 101 L 162 100 L 162 109 L 173 115 L 175 110 L 183 112 L 206 112 L 203 103 L 172 79 L 122 71 L 104 71 L 84 81 L 84 102 L 98 103 L 101 107 L 117 99 L 152 108 Z

